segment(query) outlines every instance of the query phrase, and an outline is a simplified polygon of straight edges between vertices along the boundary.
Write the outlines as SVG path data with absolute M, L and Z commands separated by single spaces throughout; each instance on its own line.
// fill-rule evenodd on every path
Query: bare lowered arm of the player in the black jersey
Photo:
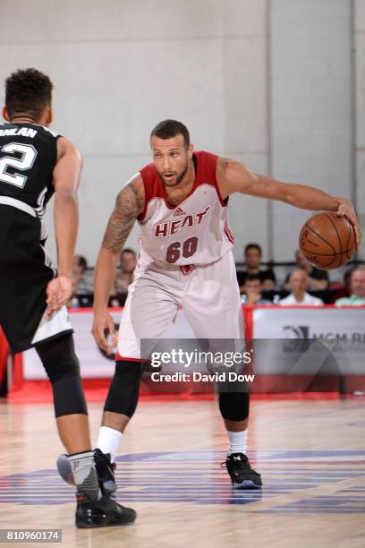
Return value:
M 53 172 L 57 277 L 47 286 L 48 315 L 64 306 L 72 295 L 72 260 L 79 224 L 77 189 L 82 169 L 81 154 L 72 142 L 60 137 L 57 157 Z

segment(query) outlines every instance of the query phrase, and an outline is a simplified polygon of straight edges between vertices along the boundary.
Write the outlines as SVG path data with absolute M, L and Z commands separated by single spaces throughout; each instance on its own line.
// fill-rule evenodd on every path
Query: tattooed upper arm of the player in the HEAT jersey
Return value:
M 115 210 L 109 218 L 102 247 L 120 253 L 142 210 L 143 197 L 137 185 L 127 184 L 116 197 Z

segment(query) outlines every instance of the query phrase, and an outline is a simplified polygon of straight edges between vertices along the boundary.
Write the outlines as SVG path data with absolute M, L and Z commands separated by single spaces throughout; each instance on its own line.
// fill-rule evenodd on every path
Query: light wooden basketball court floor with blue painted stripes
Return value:
M 226 441 L 214 401 L 142 398 L 117 459 L 117 500 L 138 519 L 78 530 L 72 488 L 55 471 L 62 446 L 52 406 L 3 401 L 1 528 L 58 528 L 62 545 L 85 548 L 363 546 L 363 404 L 252 402 L 250 458 L 264 489 L 250 492 L 233 491 L 220 467 Z M 94 441 L 101 408 L 89 406 Z

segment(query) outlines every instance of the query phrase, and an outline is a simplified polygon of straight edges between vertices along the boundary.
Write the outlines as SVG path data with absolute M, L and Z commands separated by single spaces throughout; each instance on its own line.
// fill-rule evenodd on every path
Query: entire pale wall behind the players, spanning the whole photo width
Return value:
M 356 0 L 357 112 L 362 120 L 364 3 Z M 351 4 L 1 3 L 0 80 L 31 65 L 49 73 L 55 82 L 54 128 L 74 141 L 85 159 L 78 253 L 94 263 L 115 195 L 149 162 L 150 129 L 166 117 L 187 124 L 198 149 L 242 160 L 261 173 L 271 165 L 276 177 L 348 195 L 353 152 Z M 362 204 L 364 141 L 364 124 L 359 122 Z M 272 243 L 276 260 L 291 260 L 301 223 L 310 215 L 275 204 L 270 219 L 266 201 L 243 196 L 234 196 L 230 208 L 236 260 L 242 260 L 242 247 L 249 241 L 263 245 L 265 259 Z M 364 208 L 360 206 L 363 216 Z

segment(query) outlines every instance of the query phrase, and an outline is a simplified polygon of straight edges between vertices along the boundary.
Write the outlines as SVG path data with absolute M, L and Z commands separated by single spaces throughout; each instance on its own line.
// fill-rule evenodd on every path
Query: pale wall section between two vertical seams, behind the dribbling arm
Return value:
M 275 0 L 271 16 L 273 176 L 352 198 L 352 21 L 348 0 Z M 276 260 L 310 213 L 276 202 Z M 292 255 L 293 256 L 293 255 Z

